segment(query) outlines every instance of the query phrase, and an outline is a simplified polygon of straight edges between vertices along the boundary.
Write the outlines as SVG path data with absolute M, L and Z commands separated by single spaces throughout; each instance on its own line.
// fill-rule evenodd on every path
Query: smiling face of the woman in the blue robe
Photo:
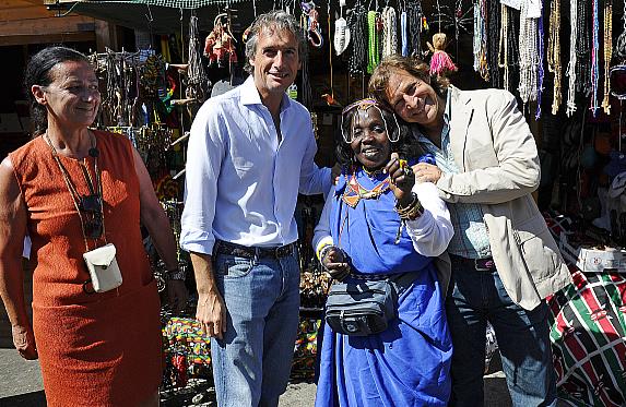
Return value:
M 378 108 L 369 106 L 356 109 L 352 118 L 350 146 L 366 169 L 376 170 L 387 165 L 391 143 Z

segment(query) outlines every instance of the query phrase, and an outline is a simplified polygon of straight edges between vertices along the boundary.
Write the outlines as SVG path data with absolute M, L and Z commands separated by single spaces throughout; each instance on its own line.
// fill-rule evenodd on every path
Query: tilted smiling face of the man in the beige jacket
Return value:
M 435 127 L 442 117 L 444 103 L 435 89 L 406 71 L 393 70 L 386 96 L 395 113 L 410 123 Z

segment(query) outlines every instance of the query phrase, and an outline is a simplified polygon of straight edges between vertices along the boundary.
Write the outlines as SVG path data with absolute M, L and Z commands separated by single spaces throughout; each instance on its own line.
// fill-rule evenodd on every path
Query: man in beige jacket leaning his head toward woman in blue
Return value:
M 369 91 L 405 121 L 437 165 L 414 167 L 449 203 L 454 238 L 446 312 L 454 347 L 452 406 L 482 406 L 485 326 L 496 332 L 515 406 L 556 405 L 544 298 L 569 272 L 531 193 L 532 133 L 507 91 L 460 91 L 422 61 L 393 56 Z

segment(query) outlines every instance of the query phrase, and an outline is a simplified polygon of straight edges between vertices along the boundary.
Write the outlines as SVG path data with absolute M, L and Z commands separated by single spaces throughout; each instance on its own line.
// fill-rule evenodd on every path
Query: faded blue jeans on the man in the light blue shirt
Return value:
M 297 252 L 282 259 L 216 254 L 214 273 L 227 310 L 224 338 L 211 339 L 217 405 L 277 406 L 297 335 Z

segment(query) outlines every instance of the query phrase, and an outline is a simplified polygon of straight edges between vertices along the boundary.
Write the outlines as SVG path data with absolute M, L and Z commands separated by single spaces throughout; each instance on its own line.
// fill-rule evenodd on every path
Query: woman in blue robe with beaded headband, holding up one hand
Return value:
M 316 227 L 318 258 L 339 280 L 411 273 L 411 283 L 379 334 L 324 324 L 316 407 L 446 406 L 452 343 L 435 266 L 453 234 L 446 204 L 434 184 L 415 182 L 402 158 L 420 155 L 416 142 L 376 100 L 344 109 L 338 144 L 343 170 Z

